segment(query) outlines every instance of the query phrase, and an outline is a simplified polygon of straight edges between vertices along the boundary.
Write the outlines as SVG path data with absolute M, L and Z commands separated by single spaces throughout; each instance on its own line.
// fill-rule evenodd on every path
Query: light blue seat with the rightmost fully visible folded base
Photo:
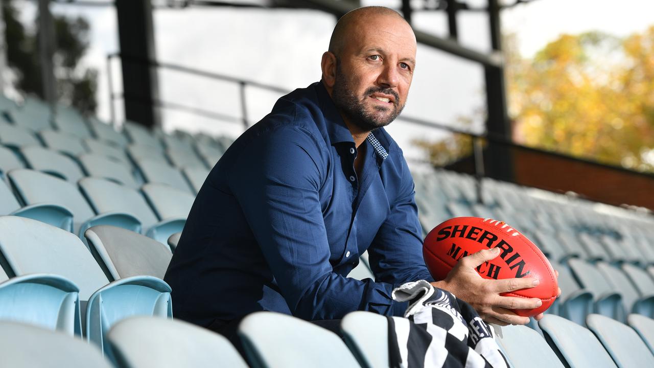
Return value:
M 621 295 L 615 291 L 608 280 L 596 267 L 581 259 L 570 259 L 568 265 L 581 286 L 594 295 L 593 312 L 624 321 L 626 318 Z

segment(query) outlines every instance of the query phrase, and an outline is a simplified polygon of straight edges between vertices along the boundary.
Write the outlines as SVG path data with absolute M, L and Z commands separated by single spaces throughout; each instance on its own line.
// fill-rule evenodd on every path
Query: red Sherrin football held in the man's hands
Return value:
M 479 217 L 455 217 L 431 230 L 422 244 L 424 262 L 435 280 L 443 280 L 456 263 L 481 249 L 499 248 L 500 255 L 477 267 L 483 278 L 538 278 L 530 289 L 504 293 L 512 297 L 540 298 L 542 306 L 513 310 L 519 316 L 542 313 L 557 298 L 557 278 L 543 252 L 523 234 L 502 221 Z

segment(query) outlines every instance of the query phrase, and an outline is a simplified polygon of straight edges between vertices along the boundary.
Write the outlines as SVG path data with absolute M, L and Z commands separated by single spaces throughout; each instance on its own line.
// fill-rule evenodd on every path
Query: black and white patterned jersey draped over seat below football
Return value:
M 420 280 L 393 290 L 409 301 L 405 318 L 388 317 L 390 367 L 508 368 L 492 327 L 470 304 Z

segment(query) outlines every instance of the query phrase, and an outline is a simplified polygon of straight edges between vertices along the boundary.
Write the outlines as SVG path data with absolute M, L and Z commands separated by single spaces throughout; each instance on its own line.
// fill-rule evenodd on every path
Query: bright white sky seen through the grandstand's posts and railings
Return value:
M 510 2 L 510 1 L 509 1 Z M 396 6 L 397 0 L 364 0 L 364 5 Z M 476 6 L 485 0 L 468 0 Z M 33 2 L 21 2 L 24 17 L 32 18 Z M 81 7 L 53 4 L 56 14 L 83 15 L 91 23 L 91 47 L 86 65 L 99 71 L 98 115 L 109 119 L 106 56 L 118 50 L 116 12 L 111 7 Z M 292 90 L 320 78 L 320 56 L 326 50 L 336 19 L 311 10 L 260 10 L 230 8 L 159 9 L 154 13 L 159 60 L 242 77 Z M 650 0 L 538 0 L 504 10 L 502 27 L 518 34 L 519 49 L 531 56 L 562 33 L 600 30 L 617 36 L 642 32 L 654 25 L 654 1 Z M 414 27 L 445 36 L 443 13 L 414 14 Z M 488 21 L 484 14 L 468 13 L 459 18 L 460 42 L 471 48 L 490 48 Z M 114 89 L 120 90 L 120 65 L 115 63 Z M 162 100 L 177 101 L 201 109 L 240 115 L 238 89 L 181 73 L 160 73 Z M 279 94 L 248 90 L 249 117 L 258 120 L 270 111 Z M 121 101 L 115 103 L 118 117 Z M 457 117 L 485 104 L 483 69 L 438 50 L 420 46 L 417 69 L 404 115 L 458 126 Z M 216 122 L 188 113 L 165 110 L 166 129 L 205 130 L 237 136 L 239 124 Z M 459 126 L 460 127 L 460 126 Z M 461 127 L 460 127 L 461 128 Z M 478 121 L 471 127 L 480 132 Z M 414 138 L 435 139 L 440 132 L 395 122 L 388 127 L 407 156 Z

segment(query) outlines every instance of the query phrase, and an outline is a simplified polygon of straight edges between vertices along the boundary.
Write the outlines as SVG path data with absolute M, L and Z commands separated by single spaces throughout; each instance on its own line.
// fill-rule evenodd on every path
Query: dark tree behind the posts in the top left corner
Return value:
M 39 58 L 39 32 L 29 33 L 18 20 L 18 9 L 12 0 L 3 0 L 6 25 L 7 62 L 16 73 L 16 88 L 44 98 Z M 88 49 L 89 24 L 84 18 L 54 16 L 56 50 L 54 73 L 58 100 L 92 114 L 97 107 L 97 71 L 82 67 L 79 61 Z

